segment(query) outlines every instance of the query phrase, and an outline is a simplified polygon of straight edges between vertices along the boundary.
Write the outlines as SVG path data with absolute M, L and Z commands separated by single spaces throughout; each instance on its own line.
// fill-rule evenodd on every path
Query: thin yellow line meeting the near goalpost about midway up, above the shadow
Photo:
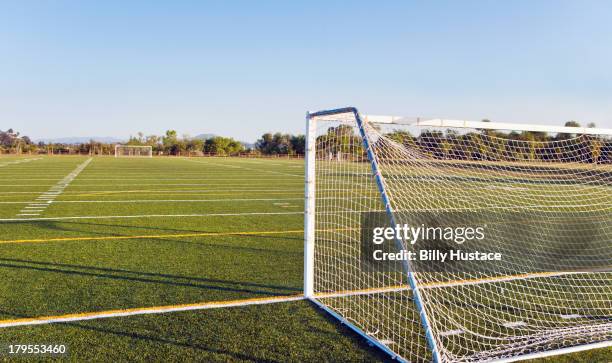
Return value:
M 199 233 L 174 233 L 174 234 L 152 234 L 152 235 L 136 235 L 136 236 L 101 236 L 101 237 L 61 237 L 61 238 L 45 238 L 45 239 L 18 239 L 0 241 L 0 244 L 12 243 L 44 243 L 44 242 L 66 242 L 66 241 L 94 241 L 94 240 L 118 240 L 118 239 L 146 239 L 146 238 L 172 238 L 172 237 L 205 237 L 205 236 L 251 236 L 251 235 L 269 235 L 269 234 L 293 234 L 303 233 L 304 230 L 288 230 L 288 231 L 247 231 L 247 232 L 199 232 Z

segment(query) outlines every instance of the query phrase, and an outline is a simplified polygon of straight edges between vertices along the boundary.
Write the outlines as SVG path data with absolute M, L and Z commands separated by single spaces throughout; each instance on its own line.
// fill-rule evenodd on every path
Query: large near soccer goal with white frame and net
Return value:
M 612 129 L 343 108 L 307 115 L 306 168 L 305 295 L 392 357 L 611 345 Z

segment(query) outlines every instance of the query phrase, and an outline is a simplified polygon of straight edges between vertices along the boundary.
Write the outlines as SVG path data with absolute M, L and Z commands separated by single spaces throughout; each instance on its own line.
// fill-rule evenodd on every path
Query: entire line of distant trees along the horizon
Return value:
M 487 121 L 487 120 L 484 120 Z M 565 124 L 580 127 L 575 121 Z M 595 127 L 589 124 L 588 127 Z M 510 132 L 495 130 L 474 130 L 459 133 L 455 130 L 423 130 L 418 136 L 407 131 L 384 133 L 374 143 L 392 140 L 419 150 L 435 159 L 450 160 L 541 160 L 561 162 L 612 163 L 612 139 L 591 135 L 557 134 L 543 132 Z M 175 130 L 168 130 L 162 136 L 145 136 L 142 132 L 130 136 L 126 145 L 151 146 L 155 155 L 304 155 L 306 139 L 304 135 L 277 133 L 263 134 L 249 147 L 243 143 L 223 136 L 206 139 L 179 137 Z M 319 152 L 325 157 L 344 155 L 365 156 L 361 141 L 355 130 L 347 125 L 330 127 L 326 134 L 317 136 Z M 34 143 L 27 136 L 9 129 L 0 130 L 0 152 L 11 153 L 53 153 L 53 154 L 93 154 L 112 155 L 115 143 L 90 141 L 80 144 Z

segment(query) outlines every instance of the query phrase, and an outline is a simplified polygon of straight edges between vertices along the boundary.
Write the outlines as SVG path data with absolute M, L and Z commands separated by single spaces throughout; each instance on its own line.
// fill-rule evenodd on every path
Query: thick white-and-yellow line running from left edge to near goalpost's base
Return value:
M 69 322 L 74 322 L 74 321 L 117 318 L 117 317 L 134 316 L 134 315 L 164 314 L 164 313 L 192 311 L 192 310 L 230 308 L 230 307 L 240 307 L 240 306 L 249 306 L 249 305 L 266 305 L 266 304 L 275 304 L 275 303 L 282 303 L 282 302 L 299 301 L 299 300 L 304 300 L 304 299 L 305 298 L 303 294 L 284 295 L 284 296 L 276 296 L 272 298 L 265 297 L 265 298 L 252 298 L 252 299 L 241 299 L 241 300 L 208 301 L 208 302 L 201 302 L 201 303 L 194 303 L 194 304 L 152 306 L 152 307 L 144 307 L 144 308 L 116 309 L 116 310 L 65 314 L 65 315 L 56 315 L 56 316 L 42 316 L 42 317 L 35 317 L 35 318 L 8 319 L 8 320 L 0 320 L 0 328 L 30 326 L 30 325 L 44 325 L 44 324 L 54 324 L 54 323 L 69 323 Z

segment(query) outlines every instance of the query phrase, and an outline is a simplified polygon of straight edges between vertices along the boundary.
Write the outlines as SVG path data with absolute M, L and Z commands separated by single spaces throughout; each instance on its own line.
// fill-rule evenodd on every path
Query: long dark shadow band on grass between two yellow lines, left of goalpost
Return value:
M 17 263 L 20 263 L 20 264 L 17 264 Z M 154 284 L 181 286 L 181 287 L 193 287 L 193 288 L 205 289 L 205 290 L 239 292 L 239 293 L 248 293 L 248 294 L 255 294 L 255 295 L 278 296 L 279 294 L 283 292 L 287 293 L 287 292 L 300 291 L 300 289 L 292 288 L 288 286 L 275 286 L 275 285 L 256 284 L 256 283 L 240 282 L 240 281 L 184 277 L 184 276 L 176 276 L 176 275 L 165 275 L 165 274 L 137 272 L 137 271 L 120 270 L 120 269 L 98 268 L 98 267 L 92 267 L 92 266 L 68 265 L 68 264 L 59 264 L 59 263 L 51 263 L 51 262 L 28 261 L 28 260 L 19 260 L 19 259 L 10 259 L 10 258 L 0 258 L 0 267 L 11 268 L 11 269 L 35 270 L 35 271 L 42 271 L 42 272 L 52 272 L 52 273 L 59 273 L 59 274 L 66 274 L 66 275 L 107 278 L 107 279 L 112 279 L 112 280 L 154 283 Z M 85 270 L 85 271 L 82 271 L 82 270 Z M 118 275 L 118 274 L 125 274 L 125 275 Z M 159 279 L 156 279 L 155 277 L 158 277 Z M 187 280 L 187 281 L 168 281 L 168 280 L 163 280 L 164 278 L 175 279 L 175 280 L 177 279 Z M 215 283 L 221 284 L 221 285 L 236 285 L 236 287 L 212 285 Z M 253 287 L 253 289 L 243 288 L 241 286 L 250 286 L 250 287 Z M 267 290 L 262 290 L 262 289 L 272 289 L 272 290 L 281 290 L 281 291 L 272 292 L 272 291 L 267 291 Z

